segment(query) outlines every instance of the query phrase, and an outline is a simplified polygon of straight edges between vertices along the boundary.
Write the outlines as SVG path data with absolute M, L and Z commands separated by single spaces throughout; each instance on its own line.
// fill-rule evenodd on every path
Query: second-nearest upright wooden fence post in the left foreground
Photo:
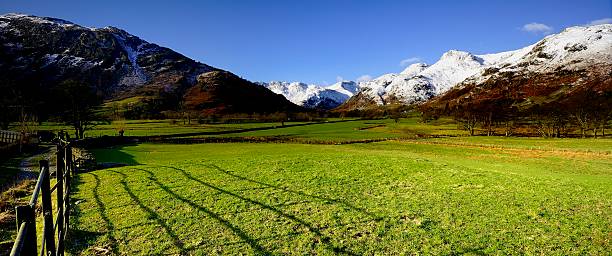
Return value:
M 49 178 L 49 161 L 40 160 L 42 170 L 42 210 L 43 210 L 43 236 L 45 255 L 55 255 L 55 239 L 53 236 L 53 207 L 51 205 L 51 184 Z

